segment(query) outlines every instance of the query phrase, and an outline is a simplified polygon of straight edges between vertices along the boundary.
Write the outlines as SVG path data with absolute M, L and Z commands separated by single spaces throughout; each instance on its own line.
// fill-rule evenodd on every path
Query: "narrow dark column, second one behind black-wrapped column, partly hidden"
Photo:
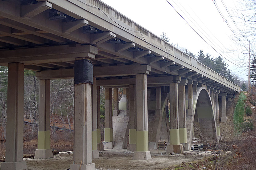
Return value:
M 100 86 L 97 88 L 97 150 L 105 151 L 103 143 L 101 143 L 101 103 L 100 103 Z M 94 94 L 95 95 L 95 94 Z

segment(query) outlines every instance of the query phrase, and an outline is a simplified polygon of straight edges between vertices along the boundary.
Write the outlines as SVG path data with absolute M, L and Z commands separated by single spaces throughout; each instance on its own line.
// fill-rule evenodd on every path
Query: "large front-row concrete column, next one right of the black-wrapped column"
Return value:
M 148 150 L 147 75 L 136 74 L 136 151 L 134 160 L 151 159 Z

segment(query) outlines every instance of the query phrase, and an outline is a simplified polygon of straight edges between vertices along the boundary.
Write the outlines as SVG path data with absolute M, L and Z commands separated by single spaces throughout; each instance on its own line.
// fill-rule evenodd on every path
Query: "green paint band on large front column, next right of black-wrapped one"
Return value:
M 136 151 L 148 151 L 148 131 L 136 131 Z

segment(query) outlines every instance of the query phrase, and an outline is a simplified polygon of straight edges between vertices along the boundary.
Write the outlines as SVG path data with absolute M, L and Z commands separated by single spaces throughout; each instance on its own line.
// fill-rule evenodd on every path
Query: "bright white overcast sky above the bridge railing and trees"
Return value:
M 206 53 L 213 57 L 219 55 L 192 30 L 166 0 L 102 1 L 159 37 L 164 31 L 170 38 L 170 43 L 176 44 L 176 46 L 185 47 L 196 55 L 200 50 L 203 50 L 205 55 Z M 245 64 L 245 62 L 248 63 L 248 56 L 238 56 L 237 53 L 230 51 L 232 49 L 237 50 L 239 47 L 232 40 L 234 35 L 218 13 L 213 3 L 214 0 L 168 1 L 211 46 L 226 59 L 240 66 L 238 67 L 224 59 L 229 64 L 229 69 L 232 72 L 244 80 L 248 79 L 248 69 L 246 67 L 248 64 Z M 240 8 L 240 4 L 233 0 L 222 1 L 232 14 L 233 11 L 236 11 L 236 8 Z M 221 0 L 215 0 L 215 2 L 225 19 L 227 19 L 231 29 L 238 31 Z

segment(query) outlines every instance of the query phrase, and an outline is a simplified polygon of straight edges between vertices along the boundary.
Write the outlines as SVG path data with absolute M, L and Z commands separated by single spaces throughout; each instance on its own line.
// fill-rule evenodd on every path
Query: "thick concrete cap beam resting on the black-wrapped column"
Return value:
M 0 2 L 1 3 L 1 2 Z M 5 38 L 5 37 L 2 37 Z M 12 37 L 9 37 L 12 38 Z M 0 38 L 1 41 L 1 38 Z M 77 55 L 81 57 L 88 56 L 95 58 L 98 54 L 97 47 L 91 45 L 63 45 L 52 47 L 39 47 L 29 49 L 16 49 L 0 52 L 0 64 L 10 62 L 20 62 L 25 64 L 33 63 L 49 63 L 56 62 L 60 59 L 62 61 L 71 61 L 77 58 Z

